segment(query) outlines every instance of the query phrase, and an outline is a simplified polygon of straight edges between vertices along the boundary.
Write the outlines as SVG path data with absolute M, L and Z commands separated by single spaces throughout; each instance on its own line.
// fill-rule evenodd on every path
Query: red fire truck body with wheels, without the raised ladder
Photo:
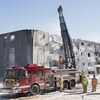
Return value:
M 12 67 L 6 70 L 2 92 L 35 95 L 42 90 L 58 89 L 59 79 L 63 82 L 63 89 L 75 87 L 75 78 L 67 69 L 51 70 L 36 64 Z

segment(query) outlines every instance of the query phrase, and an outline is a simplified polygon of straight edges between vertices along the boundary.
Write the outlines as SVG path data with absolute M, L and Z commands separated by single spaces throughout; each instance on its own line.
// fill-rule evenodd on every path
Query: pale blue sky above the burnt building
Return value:
M 72 38 L 100 42 L 100 0 L 0 0 L 0 34 L 37 29 L 60 35 L 59 5 Z

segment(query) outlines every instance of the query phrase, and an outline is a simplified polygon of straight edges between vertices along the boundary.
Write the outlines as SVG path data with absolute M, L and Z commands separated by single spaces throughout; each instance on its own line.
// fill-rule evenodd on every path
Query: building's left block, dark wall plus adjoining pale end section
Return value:
M 20 30 L 0 35 L 0 76 L 5 69 L 35 63 L 48 66 L 45 45 L 49 34 L 38 30 Z

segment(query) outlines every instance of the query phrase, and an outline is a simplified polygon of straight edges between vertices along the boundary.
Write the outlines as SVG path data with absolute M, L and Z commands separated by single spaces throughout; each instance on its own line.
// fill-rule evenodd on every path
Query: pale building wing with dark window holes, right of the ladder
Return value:
M 77 68 L 86 74 L 100 74 L 100 43 L 73 39 Z

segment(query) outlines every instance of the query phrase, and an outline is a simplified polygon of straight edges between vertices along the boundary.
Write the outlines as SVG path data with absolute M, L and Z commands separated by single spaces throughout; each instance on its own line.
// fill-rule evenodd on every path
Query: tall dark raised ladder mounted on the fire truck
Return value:
M 68 33 L 68 29 L 65 23 L 65 19 L 63 16 L 63 9 L 61 5 L 58 8 L 59 13 L 59 21 L 60 21 L 60 28 L 61 28 L 61 36 L 63 40 L 63 48 L 64 48 L 64 55 L 65 55 L 65 68 L 66 69 L 76 69 L 75 64 L 75 55 L 73 52 L 73 45 L 70 35 Z

